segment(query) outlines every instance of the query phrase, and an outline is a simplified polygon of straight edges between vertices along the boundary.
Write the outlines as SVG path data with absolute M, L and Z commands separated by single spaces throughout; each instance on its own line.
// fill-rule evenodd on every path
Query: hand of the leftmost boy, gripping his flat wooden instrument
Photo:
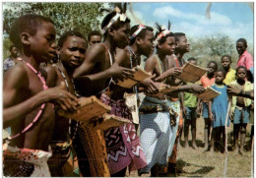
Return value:
M 78 98 L 65 90 L 64 82 L 56 88 L 46 89 L 44 94 L 48 97 L 49 101 L 58 104 L 63 110 L 75 111 L 78 109 Z

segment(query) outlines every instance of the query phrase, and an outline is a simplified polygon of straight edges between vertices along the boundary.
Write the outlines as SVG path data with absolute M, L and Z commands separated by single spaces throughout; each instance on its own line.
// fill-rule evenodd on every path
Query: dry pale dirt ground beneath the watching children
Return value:
M 250 150 L 250 131 L 251 125 L 247 125 L 246 140 L 245 140 L 245 154 L 235 154 L 232 151 L 232 127 L 227 128 L 227 166 L 225 177 L 253 177 L 253 155 Z M 204 147 L 204 120 L 200 118 L 197 120 L 197 140 L 196 144 L 198 150 L 191 148 L 191 132 L 189 133 L 189 148 L 183 148 L 184 138 L 182 135 L 181 147 L 178 147 L 177 166 L 182 168 L 183 173 L 178 177 L 224 177 L 224 162 L 225 154 L 221 152 L 209 151 L 203 152 Z M 137 171 L 130 174 L 127 171 L 127 177 L 138 177 Z M 163 177 L 175 177 L 174 174 L 162 175 Z

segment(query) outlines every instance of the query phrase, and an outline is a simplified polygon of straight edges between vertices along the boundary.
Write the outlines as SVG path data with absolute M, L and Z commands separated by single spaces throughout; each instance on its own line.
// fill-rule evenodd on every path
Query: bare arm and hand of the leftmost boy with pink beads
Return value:
M 24 92 L 29 89 L 29 85 L 27 71 L 21 65 L 15 67 L 6 75 L 3 88 L 4 127 L 8 127 L 13 120 L 25 116 L 34 108 L 49 100 L 55 100 L 65 110 L 76 109 L 77 98 L 65 91 L 63 89 L 64 85 L 59 88 L 42 90 L 32 97 L 26 98 Z

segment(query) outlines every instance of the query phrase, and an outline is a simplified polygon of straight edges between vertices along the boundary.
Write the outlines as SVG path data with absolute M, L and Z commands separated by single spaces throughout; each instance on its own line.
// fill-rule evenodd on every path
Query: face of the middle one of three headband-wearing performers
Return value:
M 147 30 L 145 38 L 140 38 L 140 50 L 141 54 L 149 57 L 153 52 L 153 41 L 154 41 L 154 33 L 153 31 Z

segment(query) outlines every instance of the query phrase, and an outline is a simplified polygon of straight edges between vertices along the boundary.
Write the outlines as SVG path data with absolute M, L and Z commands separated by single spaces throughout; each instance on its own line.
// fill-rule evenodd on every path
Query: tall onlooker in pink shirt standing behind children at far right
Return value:
M 246 50 L 247 41 L 244 38 L 239 38 L 236 41 L 236 50 L 239 54 L 239 60 L 237 61 L 236 67 L 243 66 L 247 71 L 247 79 L 253 81 L 253 58 L 252 55 Z M 249 73 L 250 72 L 250 73 Z M 249 73 L 249 76 L 248 76 Z M 252 80 L 250 80 L 252 78 Z

